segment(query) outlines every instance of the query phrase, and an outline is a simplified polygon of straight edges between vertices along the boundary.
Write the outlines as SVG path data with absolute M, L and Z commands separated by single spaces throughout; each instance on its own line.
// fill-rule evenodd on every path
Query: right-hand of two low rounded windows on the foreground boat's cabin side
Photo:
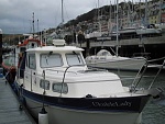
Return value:
M 62 82 L 57 82 L 57 83 L 53 83 L 53 91 L 54 92 L 58 92 L 58 93 L 67 93 L 68 92 L 68 86 L 67 83 L 62 83 Z

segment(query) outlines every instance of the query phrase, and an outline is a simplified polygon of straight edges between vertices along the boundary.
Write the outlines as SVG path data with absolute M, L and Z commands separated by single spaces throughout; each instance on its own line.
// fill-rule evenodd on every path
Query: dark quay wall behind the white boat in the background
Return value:
M 165 33 L 162 36 L 152 37 L 136 37 L 120 40 L 117 44 L 116 40 L 102 40 L 89 38 L 87 42 L 74 44 L 76 46 L 85 48 L 84 55 L 96 55 L 100 49 L 107 49 L 111 53 L 116 52 L 116 47 L 119 46 L 118 55 L 122 57 L 136 57 L 144 56 L 148 59 L 156 59 L 164 57 L 165 48 Z M 111 49 L 112 48 L 112 49 Z

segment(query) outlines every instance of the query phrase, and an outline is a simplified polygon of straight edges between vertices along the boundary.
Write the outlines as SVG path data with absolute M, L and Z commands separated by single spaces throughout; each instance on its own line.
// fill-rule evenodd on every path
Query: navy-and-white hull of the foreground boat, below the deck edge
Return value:
M 23 90 L 25 104 L 37 119 L 43 95 Z M 139 116 L 148 95 L 130 98 L 44 97 L 48 124 L 140 124 Z M 139 122 L 139 123 L 138 123 Z

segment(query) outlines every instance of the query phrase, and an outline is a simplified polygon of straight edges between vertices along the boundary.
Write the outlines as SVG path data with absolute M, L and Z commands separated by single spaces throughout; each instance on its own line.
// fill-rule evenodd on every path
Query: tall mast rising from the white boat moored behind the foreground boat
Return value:
M 118 56 L 118 49 L 119 49 L 119 22 L 118 22 L 118 20 L 119 20 L 119 15 L 118 15 L 118 8 L 119 8 L 119 3 L 118 3 L 119 1 L 117 0 L 117 46 L 116 46 L 116 54 L 117 54 L 117 56 Z

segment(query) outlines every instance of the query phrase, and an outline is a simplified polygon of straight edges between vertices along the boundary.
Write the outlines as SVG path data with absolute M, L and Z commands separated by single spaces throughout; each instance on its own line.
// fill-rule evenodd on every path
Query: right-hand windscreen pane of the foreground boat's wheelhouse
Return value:
M 84 65 L 80 54 L 77 53 L 66 54 L 66 59 L 69 66 Z

